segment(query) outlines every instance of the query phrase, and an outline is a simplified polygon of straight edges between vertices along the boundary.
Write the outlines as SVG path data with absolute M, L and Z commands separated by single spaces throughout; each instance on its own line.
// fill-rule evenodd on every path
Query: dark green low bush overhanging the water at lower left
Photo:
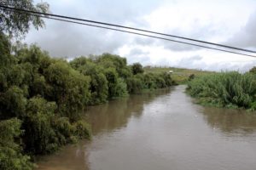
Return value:
M 68 117 L 55 115 L 56 105 L 35 97 L 29 100 L 23 118 L 25 150 L 32 155 L 47 154 L 58 150 L 63 144 L 77 139 L 90 138 L 90 127 L 83 121 L 69 121 Z

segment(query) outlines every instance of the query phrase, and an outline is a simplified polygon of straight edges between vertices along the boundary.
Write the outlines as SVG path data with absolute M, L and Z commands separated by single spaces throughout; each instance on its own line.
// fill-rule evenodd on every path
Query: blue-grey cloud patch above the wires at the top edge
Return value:
M 83 2 L 83 1 L 80 1 Z M 126 21 L 137 23 L 137 26 L 144 26 L 144 22 L 138 20 L 141 15 L 150 13 L 157 8 L 161 1 L 119 1 L 119 0 L 94 0 L 84 1 L 84 8 L 81 8 L 84 15 L 91 20 L 103 20 L 115 24 L 124 24 Z

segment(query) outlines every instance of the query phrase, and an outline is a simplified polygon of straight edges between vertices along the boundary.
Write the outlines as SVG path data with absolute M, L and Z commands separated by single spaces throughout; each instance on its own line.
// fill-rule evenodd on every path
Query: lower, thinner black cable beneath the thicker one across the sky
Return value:
M 0 7 L 1 7 L 1 5 L 0 5 Z M 7 9 L 7 10 L 13 11 L 12 9 Z M 135 34 L 135 35 L 139 35 L 139 36 L 143 36 L 143 37 L 153 37 L 153 38 L 156 38 L 156 39 L 166 40 L 166 41 L 169 41 L 169 42 L 179 42 L 179 43 L 183 43 L 183 44 L 187 44 L 187 45 L 192 45 L 192 46 L 195 46 L 195 47 L 209 48 L 209 49 L 214 49 L 214 50 L 218 50 L 218 51 L 222 51 L 222 52 L 226 52 L 226 53 L 231 53 L 231 54 L 240 54 L 240 55 L 245 55 L 245 56 L 249 56 L 249 57 L 256 57 L 256 56 L 251 55 L 251 54 L 241 54 L 241 53 L 237 53 L 237 52 L 230 51 L 230 50 L 225 50 L 225 49 L 220 49 L 220 48 L 211 48 L 211 47 L 207 47 L 207 46 L 203 46 L 203 45 L 199 45 L 199 44 L 195 44 L 195 43 L 182 42 L 182 41 L 177 41 L 177 40 L 173 40 L 173 39 L 169 39 L 169 38 L 165 38 L 165 37 L 155 37 L 155 36 L 150 36 L 150 35 L 143 34 L 143 33 L 119 30 L 119 29 L 115 29 L 115 28 L 111 28 L 111 27 L 107 27 L 107 26 L 97 26 L 97 25 L 86 24 L 86 23 L 77 22 L 77 21 L 73 21 L 73 20 L 62 20 L 62 19 L 58 19 L 58 18 L 55 18 L 55 17 L 44 16 L 44 15 L 41 15 L 41 14 L 31 14 L 30 12 L 18 11 L 18 13 L 30 14 L 32 16 L 42 17 L 42 18 L 49 19 L 49 20 L 59 20 L 59 21 L 73 23 L 73 24 L 79 24 L 79 25 L 84 25 L 84 26 L 93 26 L 93 27 L 97 27 L 97 28 L 108 29 L 108 30 L 112 30 L 112 31 L 121 31 L 121 32 L 131 33 L 131 34 Z

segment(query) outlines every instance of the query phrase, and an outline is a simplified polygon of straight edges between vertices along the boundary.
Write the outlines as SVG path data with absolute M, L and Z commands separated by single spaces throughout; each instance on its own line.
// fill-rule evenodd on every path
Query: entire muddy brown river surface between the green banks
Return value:
M 86 112 L 93 138 L 38 161 L 40 170 L 254 170 L 256 114 L 195 105 L 185 86 Z

